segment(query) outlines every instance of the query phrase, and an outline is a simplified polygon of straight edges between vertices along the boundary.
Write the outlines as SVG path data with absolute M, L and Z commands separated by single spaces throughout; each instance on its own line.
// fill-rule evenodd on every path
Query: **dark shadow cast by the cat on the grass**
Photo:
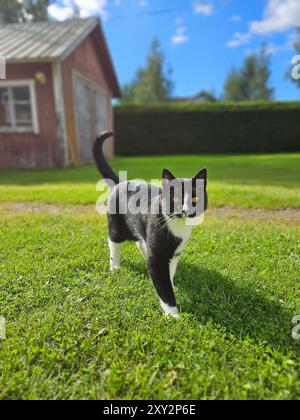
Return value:
M 142 263 L 130 265 L 136 272 L 147 272 Z M 201 324 L 220 325 L 238 338 L 250 337 L 284 353 L 299 351 L 291 336 L 295 314 L 284 303 L 268 300 L 252 284 L 237 286 L 215 270 L 181 261 L 175 287 L 181 312 L 193 314 Z

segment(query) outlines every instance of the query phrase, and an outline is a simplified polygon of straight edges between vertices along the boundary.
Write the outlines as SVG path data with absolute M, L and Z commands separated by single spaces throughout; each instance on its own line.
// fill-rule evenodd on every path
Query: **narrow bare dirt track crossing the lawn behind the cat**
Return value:
M 97 210 L 93 205 L 59 205 L 41 203 L 5 203 L 0 204 L 0 213 L 7 216 L 18 214 L 69 214 L 69 215 L 95 215 Z M 106 215 L 106 207 L 98 208 L 98 213 Z M 219 207 L 209 209 L 207 217 L 245 218 L 261 221 L 276 221 L 281 223 L 300 225 L 300 209 L 245 209 L 232 207 Z

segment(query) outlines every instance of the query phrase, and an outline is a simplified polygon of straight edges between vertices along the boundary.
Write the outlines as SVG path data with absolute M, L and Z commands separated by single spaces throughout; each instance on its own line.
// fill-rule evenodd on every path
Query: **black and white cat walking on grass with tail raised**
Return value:
M 146 260 L 163 311 L 178 318 L 173 281 L 193 226 L 196 221 L 203 220 L 207 209 L 207 170 L 202 169 L 192 179 L 179 179 L 165 169 L 162 188 L 140 181 L 122 182 L 103 154 L 103 143 L 112 136 L 110 132 L 101 134 L 93 148 L 97 167 L 111 187 L 108 199 L 110 268 L 120 268 L 121 244 L 136 242 Z M 199 188 L 199 182 L 202 188 Z M 142 190 L 146 195 L 139 198 L 140 210 L 129 211 L 130 200 Z

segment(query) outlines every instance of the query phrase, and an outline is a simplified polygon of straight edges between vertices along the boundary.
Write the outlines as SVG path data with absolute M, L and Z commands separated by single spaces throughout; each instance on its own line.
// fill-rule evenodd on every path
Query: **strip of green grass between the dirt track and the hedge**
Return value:
M 116 158 L 130 179 L 159 179 L 164 167 L 177 176 L 209 170 L 210 206 L 300 207 L 300 154 Z M 93 165 L 55 171 L 0 171 L 0 201 L 94 204 L 99 175 Z

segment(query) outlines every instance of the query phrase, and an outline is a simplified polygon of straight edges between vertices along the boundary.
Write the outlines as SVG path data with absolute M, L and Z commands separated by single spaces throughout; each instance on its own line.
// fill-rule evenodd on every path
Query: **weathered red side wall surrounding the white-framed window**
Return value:
M 7 80 L 34 80 L 37 72 L 47 79 L 45 85 L 35 83 L 39 134 L 0 133 L 1 168 L 61 166 L 51 64 L 8 64 Z

